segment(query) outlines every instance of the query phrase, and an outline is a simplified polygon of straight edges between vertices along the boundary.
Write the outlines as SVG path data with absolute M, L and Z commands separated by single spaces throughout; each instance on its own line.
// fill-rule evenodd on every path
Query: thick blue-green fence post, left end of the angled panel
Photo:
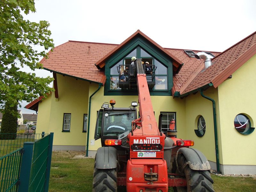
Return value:
M 28 192 L 34 142 L 24 142 L 18 192 Z

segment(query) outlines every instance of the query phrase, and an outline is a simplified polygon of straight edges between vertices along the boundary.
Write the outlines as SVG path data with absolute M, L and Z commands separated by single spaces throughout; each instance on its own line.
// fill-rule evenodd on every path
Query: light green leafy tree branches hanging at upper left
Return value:
M 53 78 L 36 77 L 20 68 L 43 68 L 40 57 L 47 58 L 47 50 L 54 46 L 48 30 L 49 23 L 24 20 L 22 14 L 36 12 L 34 0 L 0 0 L 0 110 L 6 101 L 17 106 L 22 100 L 31 102 L 53 91 L 48 86 Z M 35 46 L 43 51 L 34 50 Z

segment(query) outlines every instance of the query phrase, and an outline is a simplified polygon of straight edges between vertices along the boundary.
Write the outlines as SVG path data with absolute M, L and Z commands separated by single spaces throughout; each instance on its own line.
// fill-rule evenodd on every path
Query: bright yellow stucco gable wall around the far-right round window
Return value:
M 234 119 L 239 113 L 248 116 L 252 127 L 255 127 L 255 71 L 256 55 L 219 86 L 223 164 L 256 164 L 256 130 L 243 135 L 234 128 Z

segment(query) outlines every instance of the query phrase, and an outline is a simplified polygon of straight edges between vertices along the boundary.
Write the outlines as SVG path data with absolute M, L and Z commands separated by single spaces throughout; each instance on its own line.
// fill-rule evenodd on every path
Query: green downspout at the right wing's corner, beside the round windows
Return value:
M 212 84 L 209 84 L 212 86 Z M 203 89 L 199 89 L 201 96 L 205 99 L 212 101 L 212 108 L 213 108 L 213 125 L 214 125 L 214 139 L 215 139 L 215 153 L 216 153 L 216 165 L 217 165 L 217 172 L 220 172 L 220 162 L 219 162 L 219 148 L 218 148 L 218 136 L 217 136 L 217 122 L 216 122 L 216 108 L 215 108 L 215 101 L 204 95 Z

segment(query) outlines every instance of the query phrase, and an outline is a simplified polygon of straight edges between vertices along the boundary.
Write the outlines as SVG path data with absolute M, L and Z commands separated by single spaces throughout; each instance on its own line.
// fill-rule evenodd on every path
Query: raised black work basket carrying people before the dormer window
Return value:
M 119 65 L 117 66 L 117 71 L 119 73 L 119 87 L 123 89 L 137 89 L 137 73 L 138 67 L 142 68 L 140 73 L 146 74 L 146 79 L 148 83 L 148 88 L 153 89 L 156 84 L 156 66 L 150 65 L 148 62 L 143 62 L 142 59 L 134 59 L 131 64 Z

